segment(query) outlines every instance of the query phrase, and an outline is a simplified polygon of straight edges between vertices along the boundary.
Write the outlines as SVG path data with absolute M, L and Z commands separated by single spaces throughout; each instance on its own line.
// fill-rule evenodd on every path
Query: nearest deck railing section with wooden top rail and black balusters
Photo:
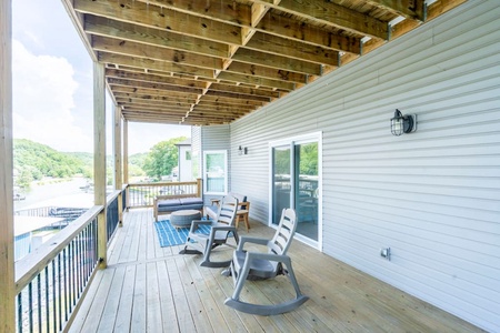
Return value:
M 17 263 L 17 332 L 59 332 L 98 264 L 94 206 Z

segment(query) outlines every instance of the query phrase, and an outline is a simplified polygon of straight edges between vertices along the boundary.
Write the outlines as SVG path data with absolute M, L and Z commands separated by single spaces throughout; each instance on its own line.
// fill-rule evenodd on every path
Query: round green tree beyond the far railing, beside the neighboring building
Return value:
M 171 174 L 179 161 L 179 151 L 176 144 L 186 139 L 186 137 L 174 138 L 154 144 L 142 165 L 146 174 L 157 180 L 160 180 L 162 175 Z

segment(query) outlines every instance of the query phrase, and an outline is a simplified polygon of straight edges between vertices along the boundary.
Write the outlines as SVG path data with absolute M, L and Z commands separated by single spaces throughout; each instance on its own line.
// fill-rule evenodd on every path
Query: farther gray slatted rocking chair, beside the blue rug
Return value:
M 208 268 L 227 268 L 230 265 L 231 260 L 222 262 L 210 261 L 210 254 L 213 249 L 219 245 L 226 244 L 229 233 L 232 232 L 234 240 L 238 243 L 238 232 L 234 226 L 236 213 L 238 210 L 238 199 L 233 196 L 224 198 L 216 220 L 213 221 L 192 221 L 191 229 L 189 230 L 186 245 L 179 254 L 203 254 L 203 260 L 200 263 L 201 266 Z M 196 232 L 200 225 L 210 225 L 210 233 Z M 194 242 L 191 242 L 194 241 Z M 198 248 L 199 250 L 190 250 L 188 246 Z

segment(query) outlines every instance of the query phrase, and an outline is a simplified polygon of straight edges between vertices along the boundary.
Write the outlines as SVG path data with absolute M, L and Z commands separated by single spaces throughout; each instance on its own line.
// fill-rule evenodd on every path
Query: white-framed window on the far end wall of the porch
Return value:
M 228 192 L 228 153 L 226 150 L 203 152 L 203 193 L 226 195 Z

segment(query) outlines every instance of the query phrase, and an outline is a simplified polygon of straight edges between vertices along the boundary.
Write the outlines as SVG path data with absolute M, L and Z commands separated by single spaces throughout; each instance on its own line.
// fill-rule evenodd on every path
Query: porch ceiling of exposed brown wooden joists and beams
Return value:
M 126 120 L 204 125 L 230 123 L 466 1 L 63 3 Z

